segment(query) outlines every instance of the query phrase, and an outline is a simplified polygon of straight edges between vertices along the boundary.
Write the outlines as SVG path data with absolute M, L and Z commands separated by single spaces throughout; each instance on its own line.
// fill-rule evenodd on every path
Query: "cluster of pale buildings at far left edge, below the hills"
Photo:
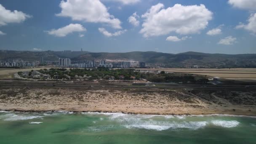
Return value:
M 21 59 L 12 61 L 0 61 L 0 67 L 36 67 L 38 62 L 23 61 Z

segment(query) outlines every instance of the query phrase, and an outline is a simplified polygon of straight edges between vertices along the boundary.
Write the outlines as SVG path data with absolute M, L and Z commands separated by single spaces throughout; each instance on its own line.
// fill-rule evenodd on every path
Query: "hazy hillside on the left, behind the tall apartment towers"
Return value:
M 25 61 L 40 61 L 43 56 L 45 61 L 56 61 L 61 58 L 74 58 L 87 51 L 7 51 L 0 50 L 0 60 L 23 59 Z

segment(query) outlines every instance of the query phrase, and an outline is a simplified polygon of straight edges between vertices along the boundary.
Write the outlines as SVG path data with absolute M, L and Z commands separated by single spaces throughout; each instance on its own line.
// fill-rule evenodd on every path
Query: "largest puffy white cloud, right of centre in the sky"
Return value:
M 176 4 L 164 9 L 162 3 L 153 5 L 141 17 L 144 18 L 140 31 L 144 37 L 166 35 L 170 32 L 186 35 L 205 29 L 213 13 L 205 5 L 183 6 Z

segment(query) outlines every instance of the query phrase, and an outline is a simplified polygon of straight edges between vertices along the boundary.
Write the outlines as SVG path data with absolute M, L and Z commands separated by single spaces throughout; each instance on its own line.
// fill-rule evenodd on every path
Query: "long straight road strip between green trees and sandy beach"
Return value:
M 155 85 L 155 86 L 153 86 Z M 0 87 L 29 87 L 29 88 L 197 88 L 197 89 L 230 89 L 230 90 L 256 90 L 256 85 L 191 85 L 191 84 L 157 84 L 149 86 L 132 85 L 132 83 L 59 83 L 51 81 L 14 81 L 0 80 Z

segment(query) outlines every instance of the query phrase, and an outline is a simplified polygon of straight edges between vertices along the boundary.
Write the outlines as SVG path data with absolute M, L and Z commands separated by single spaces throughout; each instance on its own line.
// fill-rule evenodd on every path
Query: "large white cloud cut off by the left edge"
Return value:
M 8 23 L 21 23 L 32 16 L 23 13 L 22 11 L 10 11 L 5 9 L 3 5 L 0 4 L 0 26 L 4 26 Z

